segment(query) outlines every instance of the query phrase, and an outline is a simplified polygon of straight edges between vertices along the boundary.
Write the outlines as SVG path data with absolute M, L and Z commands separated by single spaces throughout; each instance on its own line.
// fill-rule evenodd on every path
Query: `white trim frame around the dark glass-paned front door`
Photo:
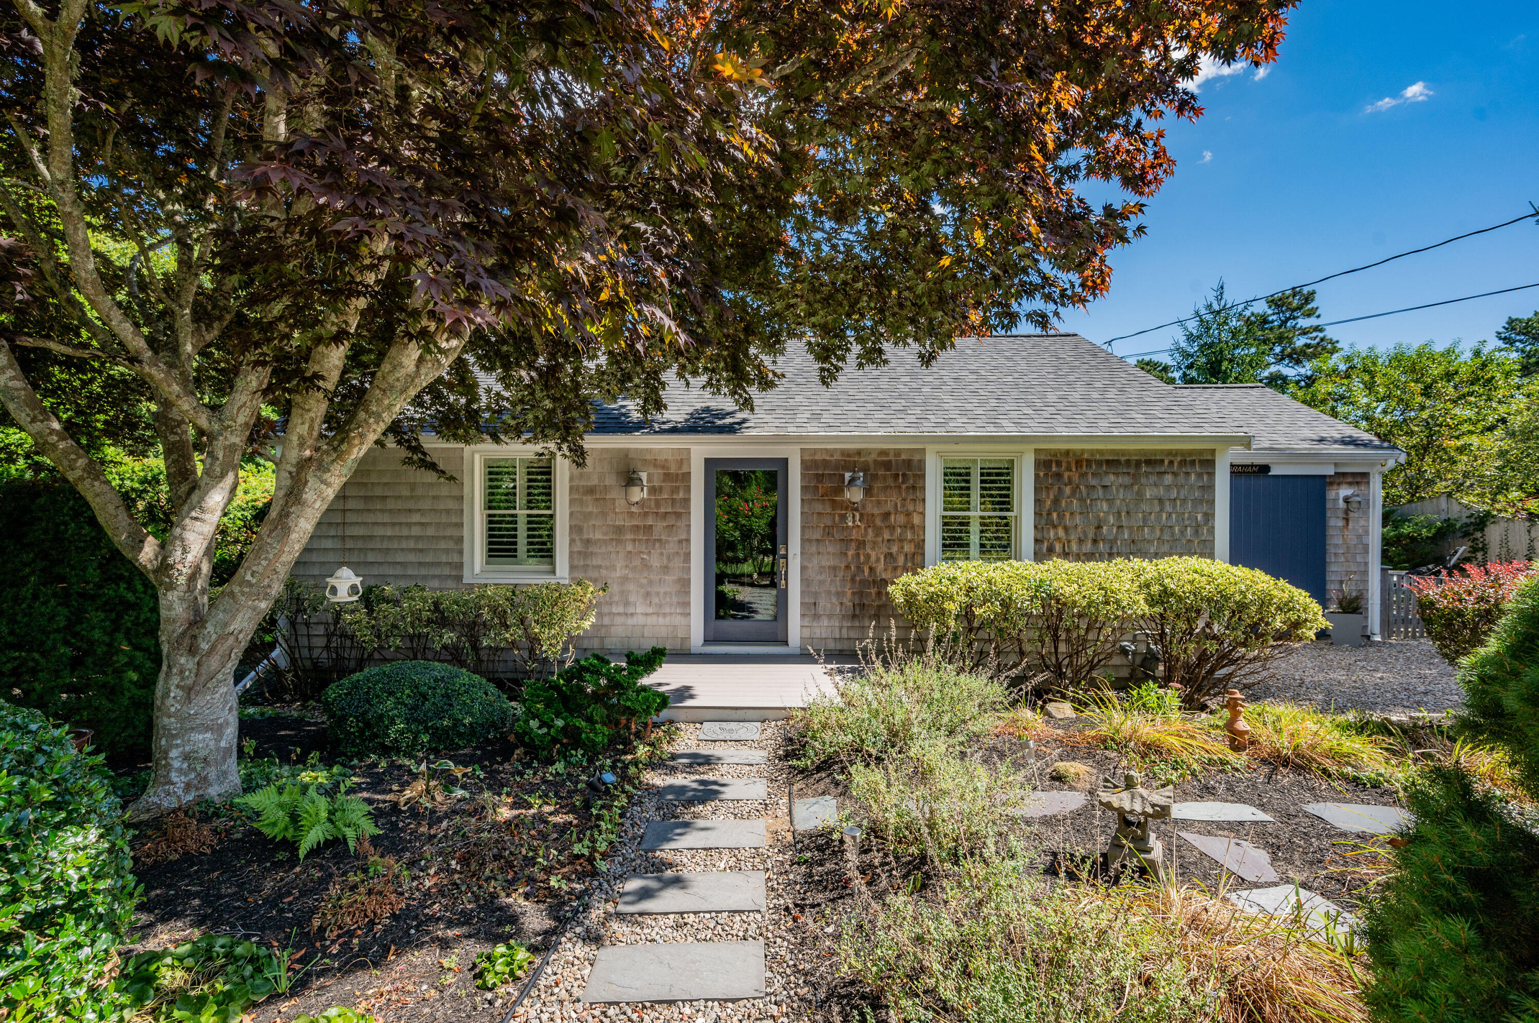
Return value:
M 705 641 L 705 460 L 783 458 L 785 538 L 790 565 L 785 592 L 785 643 Z M 689 449 L 689 652 L 796 654 L 802 649 L 802 449 L 783 445 L 708 445 Z M 714 580 L 714 569 L 713 569 Z

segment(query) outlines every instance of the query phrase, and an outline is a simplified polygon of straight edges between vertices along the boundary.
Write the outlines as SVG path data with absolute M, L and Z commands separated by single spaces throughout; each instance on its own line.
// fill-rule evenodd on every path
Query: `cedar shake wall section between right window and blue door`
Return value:
M 1213 557 L 1213 483 L 1208 452 L 1039 448 L 1036 558 Z

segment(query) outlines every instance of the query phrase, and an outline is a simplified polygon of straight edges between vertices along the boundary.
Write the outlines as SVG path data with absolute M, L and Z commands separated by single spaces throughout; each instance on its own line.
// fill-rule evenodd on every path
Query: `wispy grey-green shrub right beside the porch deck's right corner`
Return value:
M 868 666 L 834 680 L 793 712 L 799 763 L 882 760 L 916 745 L 956 745 L 979 735 L 1005 709 L 1005 688 L 933 657 Z

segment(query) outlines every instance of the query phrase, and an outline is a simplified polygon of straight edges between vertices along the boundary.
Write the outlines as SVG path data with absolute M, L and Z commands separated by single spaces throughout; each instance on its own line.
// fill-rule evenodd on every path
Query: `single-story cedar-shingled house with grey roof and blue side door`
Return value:
M 583 466 L 429 438 L 443 480 L 371 451 L 294 574 L 608 583 L 596 651 L 850 652 L 891 580 L 953 558 L 1205 555 L 1360 592 L 1379 621 L 1404 454 L 1265 386 L 1167 385 L 1077 334 L 896 352 L 831 388 L 805 352 L 777 368 L 753 412 L 688 388 L 651 422 L 599 409 Z

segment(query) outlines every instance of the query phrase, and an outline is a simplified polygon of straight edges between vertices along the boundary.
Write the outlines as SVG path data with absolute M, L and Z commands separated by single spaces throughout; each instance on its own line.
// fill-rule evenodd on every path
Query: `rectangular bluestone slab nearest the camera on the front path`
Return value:
M 763 941 L 611 945 L 588 971 L 583 1001 L 716 1001 L 765 997 Z

